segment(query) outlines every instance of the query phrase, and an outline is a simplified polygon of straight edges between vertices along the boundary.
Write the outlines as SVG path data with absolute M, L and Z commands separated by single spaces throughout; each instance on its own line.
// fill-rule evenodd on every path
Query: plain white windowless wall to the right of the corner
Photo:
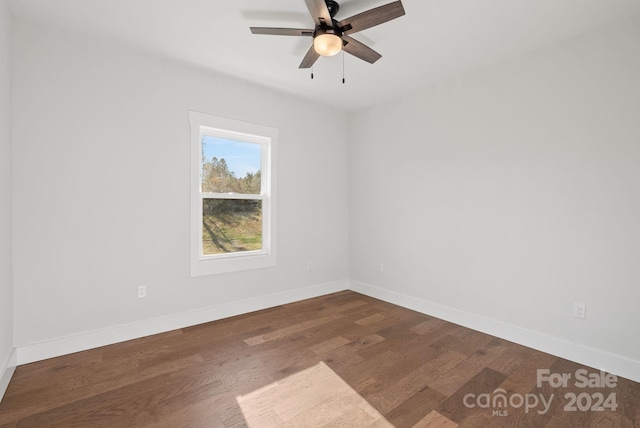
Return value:
M 353 283 L 640 378 L 639 41 L 636 16 L 353 114 Z

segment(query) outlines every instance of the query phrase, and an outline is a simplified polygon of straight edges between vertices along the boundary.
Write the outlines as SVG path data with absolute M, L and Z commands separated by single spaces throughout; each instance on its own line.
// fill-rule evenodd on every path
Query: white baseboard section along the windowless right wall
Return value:
M 359 281 L 350 281 L 349 289 L 388 303 L 393 303 L 407 309 L 593 367 L 597 370 L 604 370 L 607 373 L 613 373 L 634 382 L 640 382 L 640 361 L 583 346 L 579 343 L 549 336 L 540 332 L 523 329 L 448 306 L 439 305 L 427 300 L 396 293 L 395 291 L 375 287 Z

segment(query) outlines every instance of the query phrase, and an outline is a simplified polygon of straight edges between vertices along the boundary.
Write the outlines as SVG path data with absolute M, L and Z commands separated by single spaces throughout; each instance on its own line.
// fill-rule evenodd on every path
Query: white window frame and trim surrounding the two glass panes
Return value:
M 215 275 L 276 265 L 275 151 L 278 129 L 226 117 L 189 111 L 191 124 L 191 276 Z M 259 195 L 202 192 L 202 137 L 260 144 L 261 192 Z M 262 249 L 204 255 L 202 251 L 202 201 L 256 199 L 262 201 Z

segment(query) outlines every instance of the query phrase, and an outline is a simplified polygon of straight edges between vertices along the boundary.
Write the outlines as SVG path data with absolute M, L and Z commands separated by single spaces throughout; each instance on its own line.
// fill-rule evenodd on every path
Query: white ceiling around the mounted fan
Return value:
M 403 0 L 406 15 L 353 35 L 382 54 L 298 69 L 312 28 L 304 0 L 8 0 L 18 17 L 68 27 L 353 110 L 640 13 L 640 0 Z M 342 0 L 344 19 L 391 0 Z

